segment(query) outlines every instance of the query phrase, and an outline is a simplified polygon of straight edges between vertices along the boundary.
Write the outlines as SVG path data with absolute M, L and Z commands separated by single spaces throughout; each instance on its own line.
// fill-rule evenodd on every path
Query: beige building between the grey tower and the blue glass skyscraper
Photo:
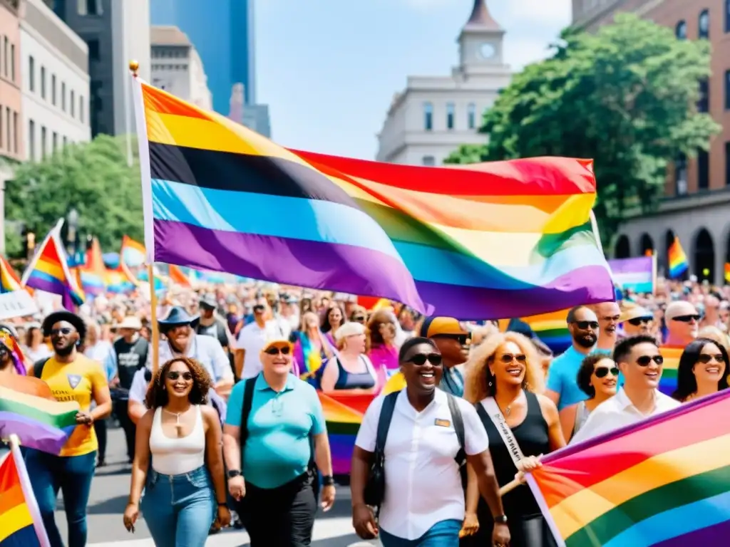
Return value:
M 212 95 L 200 55 L 176 26 L 150 29 L 152 84 L 202 109 L 212 110 Z

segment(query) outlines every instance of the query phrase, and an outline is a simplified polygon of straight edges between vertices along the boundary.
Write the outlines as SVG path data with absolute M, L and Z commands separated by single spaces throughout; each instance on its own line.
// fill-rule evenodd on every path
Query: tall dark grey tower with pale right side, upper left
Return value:
M 150 0 L 45 0 L 88 46 L 91 135 L 134 133 L 128 61 L 150 81 Z

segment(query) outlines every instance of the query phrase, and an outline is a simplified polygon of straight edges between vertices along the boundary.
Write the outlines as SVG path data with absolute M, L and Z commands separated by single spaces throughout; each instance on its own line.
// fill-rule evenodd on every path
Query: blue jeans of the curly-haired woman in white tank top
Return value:
M 181 475 L 150 469 L 140 508 L 156 547 L 203 547 L 218 509 L 207 468 Z

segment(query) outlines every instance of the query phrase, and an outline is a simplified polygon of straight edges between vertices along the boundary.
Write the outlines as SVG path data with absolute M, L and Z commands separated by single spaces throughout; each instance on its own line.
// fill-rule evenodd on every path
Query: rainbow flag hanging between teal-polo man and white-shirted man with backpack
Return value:
M 350 474 L 350 460 L 363 415 L 374 395 L 325 395 L 318 392 L 324 419 L 327 423 L 327 436 L 332 453 L 332 470 L 335 475 Z

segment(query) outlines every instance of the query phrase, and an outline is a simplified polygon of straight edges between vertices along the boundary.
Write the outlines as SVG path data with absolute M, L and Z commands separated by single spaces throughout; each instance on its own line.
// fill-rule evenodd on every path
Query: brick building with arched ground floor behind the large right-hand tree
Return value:
M 613 239 L 616 257 L 657 253 L 666 271 L 666 251 L 675 236 L 685 249 L 691 273 L 722 282 L 730 262 L 730 0 L 572 0 L 573 24 L 588 31 L 611 23 L 617 12 L 634 12 L 671 28 L 678 39 L 707 39 L 712 76 L 699 82 L 698 108 L 723 126 L 710 152 L 675 158 L 658 210 L 629 219 Z M 599 181 L 600 185 L 601 181 Z

